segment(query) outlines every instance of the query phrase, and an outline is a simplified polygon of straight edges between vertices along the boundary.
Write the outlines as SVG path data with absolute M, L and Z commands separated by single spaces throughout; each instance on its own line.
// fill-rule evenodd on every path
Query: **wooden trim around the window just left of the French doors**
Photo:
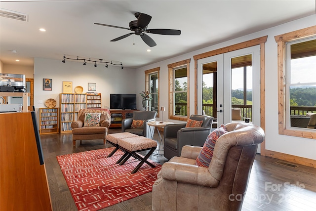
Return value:
M 169 119 L 170 120 L 180 120 L 180 121 L 187 121 L 190 117 L 190 62 L 191 59 L 185 59 L 179 62 L 175 62 L 172 64 L 168 64 L 169 70 Z M 188 88 L 187 88 L 187 117 L 175 116 L 173 115 L 173 69 L 179 66 L 187 65 L 187 77 L 188 77 Z

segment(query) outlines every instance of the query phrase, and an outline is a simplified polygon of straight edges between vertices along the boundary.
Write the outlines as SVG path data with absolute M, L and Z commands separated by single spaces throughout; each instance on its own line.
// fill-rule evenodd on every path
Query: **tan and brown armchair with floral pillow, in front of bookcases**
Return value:
M 101 113 L 100 126 L 83 127 L 85 113 Z M 106 143 L 106 135 L 111 125 L 111 114 L 108 109 L 80 109 L 78 120 L 71 123 L 73 133 L 73 145 L 76 146 L 76 140 L 94 140 L 103 139 Z

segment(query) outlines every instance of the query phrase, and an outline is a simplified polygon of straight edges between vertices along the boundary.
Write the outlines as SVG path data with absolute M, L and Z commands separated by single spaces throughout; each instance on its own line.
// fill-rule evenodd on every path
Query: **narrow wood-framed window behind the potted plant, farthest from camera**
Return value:
M 145 89 L 149 90 L 153 97 L 149 102 L 149 111 L 157 111 L 157 117 L 159 117 L 159 70 L 160 67 L 145 71 Z

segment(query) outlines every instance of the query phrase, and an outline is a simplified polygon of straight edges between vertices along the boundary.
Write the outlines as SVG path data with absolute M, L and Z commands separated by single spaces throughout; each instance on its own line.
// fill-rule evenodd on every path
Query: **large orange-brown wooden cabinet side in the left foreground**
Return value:
M 0 211 L 51 211 L 31 112 L 1 113 L 0 133 Z

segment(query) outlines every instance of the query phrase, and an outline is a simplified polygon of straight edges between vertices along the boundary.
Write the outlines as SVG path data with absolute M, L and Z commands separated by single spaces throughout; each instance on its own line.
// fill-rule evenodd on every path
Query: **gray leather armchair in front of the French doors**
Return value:
M 163 130 L 164 157 L 170 160 L 180 156 L 185 145 L 203 146 L 211 132 L 213 117 L 206 115 L 191 115 L 191 120 L 203 121 L 201 127 L 185 127 L 186 123 L 168 124 Z

